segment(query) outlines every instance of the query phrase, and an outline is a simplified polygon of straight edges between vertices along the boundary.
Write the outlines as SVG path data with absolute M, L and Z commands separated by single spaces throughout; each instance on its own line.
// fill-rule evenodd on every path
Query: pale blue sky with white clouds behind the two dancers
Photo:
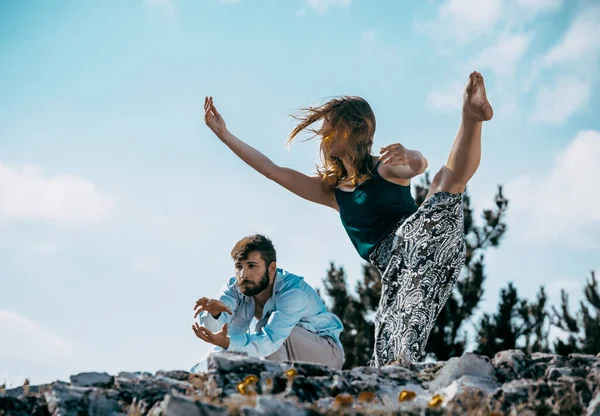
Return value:
M 0 382 L 190 368 L 210 349 L 193 305 L 250 233 L 315 286 L 330 260 L 360 276 L 337 214 L 237 160 L 203 123 L 206 95 L 234 134 L 309 174 L 317 143 L 284 147 L 289 114 L 361 95 L 374 149 L 419 149 L 435 173 L 482 72 L 495 117 L 469 191 L 481 208 L 503 184 L 510 210 L 481 308 L 508 281 L 578 299 L 600 268 L 594 3 L 0 3 Z

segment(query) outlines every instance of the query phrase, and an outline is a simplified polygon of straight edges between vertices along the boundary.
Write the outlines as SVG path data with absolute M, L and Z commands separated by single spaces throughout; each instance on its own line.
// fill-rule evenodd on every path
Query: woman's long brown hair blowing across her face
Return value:
M 317 107 L 303 108 L 301 111 L 305 114 L 292 116 L 300 123 L 291 132 L 286 144 L 292 143 L 303 130 L 313 132 L 311 138 L 321 136 L 323 166 L 317 166 L 317 171 L 322 177 L 324 191 L 332 191 L 346 179 L 349 179 L 353 186 L 357 186 L 372 176 L 371 146 L 375 135 L 375 114 L 366 100 L 356 96 L 342 96 Z M 317 121 L 323 121 L 321 127 L 312 128 L 312 124 Z M 332 138 L 341 136 L 345 137 L 347 154 L 354 166 L 354 172 L 350 176 L 342 160 L 331 156 Z

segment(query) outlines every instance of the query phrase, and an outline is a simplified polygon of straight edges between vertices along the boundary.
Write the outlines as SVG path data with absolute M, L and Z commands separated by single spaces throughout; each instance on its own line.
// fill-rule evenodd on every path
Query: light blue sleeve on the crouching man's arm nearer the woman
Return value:
M 271 355 L 281 348 L 305 311 L 304 293 L 301 289 L 291 289 L 278 297 L 276 309 L 261 332 L 231 335 L 227 350 Z

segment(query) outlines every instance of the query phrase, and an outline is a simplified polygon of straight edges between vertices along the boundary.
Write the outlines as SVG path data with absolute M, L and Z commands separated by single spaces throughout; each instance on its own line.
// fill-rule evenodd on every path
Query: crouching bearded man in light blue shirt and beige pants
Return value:
M 194 318 L 199 316 L 192 326 L 196 336 L 216 350 L 341 369 L 342 322 L 302 277 L 277 268 L 272 242 L 260 234 L 245 237 L 231 257 L 235 277 L 218 299 L 201 298 L 194 306 Z M 199 364 L 190 371 L 196 372 Z

